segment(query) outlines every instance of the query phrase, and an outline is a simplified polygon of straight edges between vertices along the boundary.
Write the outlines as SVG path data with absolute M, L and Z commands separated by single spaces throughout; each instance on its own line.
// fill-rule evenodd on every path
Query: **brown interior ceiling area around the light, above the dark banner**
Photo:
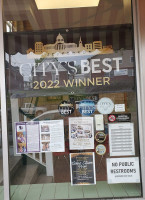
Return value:
M 38 10 L 35 0 L 4 0 L 4 21 L 25 20 L 33 30 L 128 24 L 131 0 L 100 0 L 98 7 L 54 10 Z

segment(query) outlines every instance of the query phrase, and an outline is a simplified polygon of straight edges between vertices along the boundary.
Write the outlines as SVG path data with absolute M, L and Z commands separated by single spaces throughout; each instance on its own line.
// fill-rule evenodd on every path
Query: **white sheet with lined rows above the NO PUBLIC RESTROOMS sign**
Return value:
M 110 156 L 135 155 L 134 124 L 109 124 Z

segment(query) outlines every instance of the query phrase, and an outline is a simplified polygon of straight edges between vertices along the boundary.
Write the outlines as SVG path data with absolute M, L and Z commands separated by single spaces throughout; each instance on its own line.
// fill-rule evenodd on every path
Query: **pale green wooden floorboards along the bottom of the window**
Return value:
M 70 183 L 49 183 L 11 186 L 11 200 L 97 199 L 141 196 L 140 184 L 110 184 L 98 181 L 96 185 L 71 186 Z M 0 187 L 3 200 L 3 187 Z

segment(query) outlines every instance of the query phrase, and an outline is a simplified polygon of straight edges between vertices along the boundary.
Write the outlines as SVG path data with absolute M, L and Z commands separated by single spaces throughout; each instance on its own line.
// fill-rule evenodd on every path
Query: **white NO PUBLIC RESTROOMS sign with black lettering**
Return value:
M 139 158 L 107 158 L 108 184 L 140 183 Z

